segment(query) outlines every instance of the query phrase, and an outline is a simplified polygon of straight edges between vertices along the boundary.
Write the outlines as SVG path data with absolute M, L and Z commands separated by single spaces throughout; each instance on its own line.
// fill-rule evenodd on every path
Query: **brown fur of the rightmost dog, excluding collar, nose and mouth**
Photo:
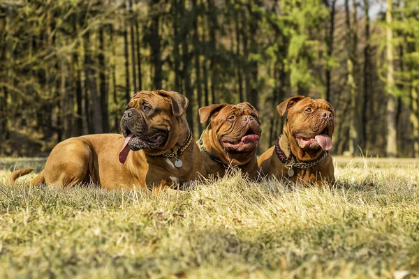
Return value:
M 312 112 L 306 112 L 307 107 L 311 107 Z M 322 155 L 323 149 L 302 149 L 297 144 L 295 135 L 303 134 L 307 135 L 307 137 L 314 137 L 314 135 L 321 133 L 325 127 L 328 127 L 328 135 L 332 138 L 335 130 L 335 111 L 332 105 L 325 100 L 313 100 L 304 96 L 296 96 L 288 98 L 277 106 L 279 116 L 284 116 L 287 111 L 288 119 L 284 124 L 283 135 L 279 141 L 281 150 L 286 153 L 286 156 L 289 156 L 288 146 L 290 146 L 293 162 L 295 163 L 316 160 L 316 158 Z M 332 120 L 327 123 L 322 121 L 322 112 L 331 112 Z M 259 157 L 258 164 L 262 174 L 273 175 L 277 179 L 285 177 L 295 183 L 321 184 L 322 181 L 332 182 L 335 180 L 332 157 L 330 155 L 309 169 L 297 169 L 293 167 L 295 174 L 291 177 L 287 174 L 288 167 L 281 163 L 277 157 L 274 146 Z

